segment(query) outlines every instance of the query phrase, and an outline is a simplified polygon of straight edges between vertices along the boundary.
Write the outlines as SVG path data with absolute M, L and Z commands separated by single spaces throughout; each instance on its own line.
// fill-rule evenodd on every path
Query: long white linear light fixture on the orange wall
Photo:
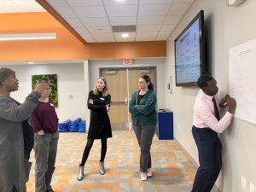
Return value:
M 32 40 L 32 39 L 56 39 L 56 33 L 20 33 L 0 34 L 0 41 Z

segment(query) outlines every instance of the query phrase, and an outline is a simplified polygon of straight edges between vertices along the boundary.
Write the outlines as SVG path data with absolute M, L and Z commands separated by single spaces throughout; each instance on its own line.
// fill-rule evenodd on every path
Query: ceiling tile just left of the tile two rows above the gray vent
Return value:
M 72 7 L 79 17 L 106 17 L 103 6 Z

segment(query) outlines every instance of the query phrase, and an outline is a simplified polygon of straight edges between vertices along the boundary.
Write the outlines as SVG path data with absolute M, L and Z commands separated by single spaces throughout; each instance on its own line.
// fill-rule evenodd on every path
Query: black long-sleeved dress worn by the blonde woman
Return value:
M 92 99 L 93 104 L 88 101 Z M 87 105 L 90 109 L 90 127 L 88 139 L 102 139 L 112 137 L 110 120 L 108 117 L 106 105 L 110 104 L 111 96 L 102 96 L 102 92 L 98 96 L 94 95 L 90 90 Z

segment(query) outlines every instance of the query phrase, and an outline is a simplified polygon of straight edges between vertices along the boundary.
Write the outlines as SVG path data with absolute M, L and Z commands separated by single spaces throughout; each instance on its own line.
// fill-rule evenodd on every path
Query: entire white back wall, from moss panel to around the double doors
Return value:
M 165 108 L 165 95 L 161 94 L 166 89 L 164 84 L 165 59 L 137 59 L 133 61 L 132 67 L 156 67 L 158 108 Z M 41 65 L 9 65 L 15 70 L 19 79 L 20 88 L 12 92 L 18 102 L 24 102 L 28 93 L 32 90 L 32 75 L 36 74 L 57 74 L 58 78 L 58 99 L 59 106 L 56 113 L 60 122 L 66 119 L 76 119 L 81 117 L 86 120 L 86 125 L 90 124 L 90 111 L 87 109 L 87 96 L 96 84 L 99 77 L 100 67 L 124 67 L 122 60 L 96 60 L 81 61 L 81 63 L 64 64 L 41 64 Z

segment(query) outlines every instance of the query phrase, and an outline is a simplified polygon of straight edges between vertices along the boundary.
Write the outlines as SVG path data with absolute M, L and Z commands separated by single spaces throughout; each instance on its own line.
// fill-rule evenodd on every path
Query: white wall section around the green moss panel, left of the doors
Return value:
M 60 122 L 66 119 L 85 119 L 87 93 L 84 84 L 84 63 L 8 66 L 15 70 L 20 88 L 11 93 L 17 101 L 24 102 L 32 90 L 32 75 L 57 74 L 59 106 L 56 113 Z

